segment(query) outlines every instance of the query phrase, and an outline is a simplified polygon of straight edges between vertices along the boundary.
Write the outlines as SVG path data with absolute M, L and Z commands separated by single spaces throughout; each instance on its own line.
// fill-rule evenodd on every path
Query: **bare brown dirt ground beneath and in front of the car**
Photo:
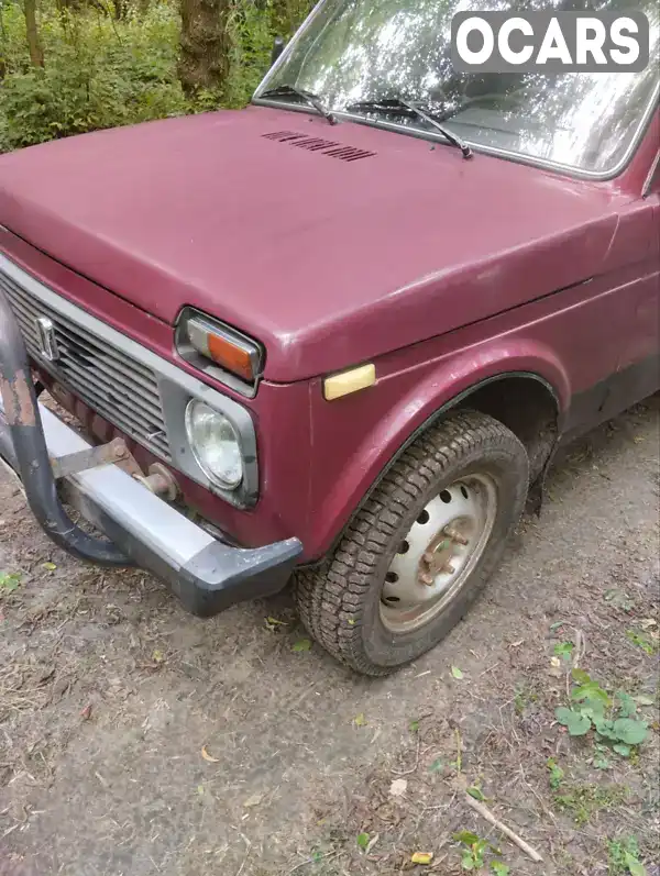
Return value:
M 452 876 L 473 831 L 515 875 L 624 874 L 627 843 L 658 876 L 659 413 L 572 446 L 470 617 L 384 680 L 308 647 L 286 595 L 201 621 L 74 562 L 0 472 L 0 874 Z M 573 662 L 637 698 L 630 757 L 554 721 Z

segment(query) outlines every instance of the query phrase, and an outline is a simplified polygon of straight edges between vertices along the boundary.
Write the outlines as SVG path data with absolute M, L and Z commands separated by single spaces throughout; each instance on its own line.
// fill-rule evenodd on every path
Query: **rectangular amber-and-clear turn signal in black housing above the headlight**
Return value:
M 256 342 L 194 311 L 179 322 L 177 348 L 188 362 L 193 350 L 249 384 L 261 374 L 263 353 Z

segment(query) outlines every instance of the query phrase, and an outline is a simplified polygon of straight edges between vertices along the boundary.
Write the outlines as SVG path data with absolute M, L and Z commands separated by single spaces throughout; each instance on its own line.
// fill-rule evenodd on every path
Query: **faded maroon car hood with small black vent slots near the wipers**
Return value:
M 331 372 L 592 276 L 617 196 L 444 144 L 263 107 L 0 158 L 0 224 L 174 323 L 197 307 Z

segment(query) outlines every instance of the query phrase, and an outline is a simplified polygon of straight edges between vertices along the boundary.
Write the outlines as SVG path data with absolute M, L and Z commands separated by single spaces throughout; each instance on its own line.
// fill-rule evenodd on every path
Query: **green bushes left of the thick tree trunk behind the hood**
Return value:
M 100 11 L 41 8 L 45 67 L 31 67 L 18 5 L 6 12 L 7 75 L 0 91 L 0 148 L 11 149 L 99 127 L 177 115 L 178 21 L 154 7 L 145 20 L 113 22 Z

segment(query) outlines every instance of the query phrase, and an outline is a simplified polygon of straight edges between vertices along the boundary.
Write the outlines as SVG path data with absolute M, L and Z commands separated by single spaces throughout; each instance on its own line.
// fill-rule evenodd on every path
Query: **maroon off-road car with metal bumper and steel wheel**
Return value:
M 660 387 L 657 4 L 647 69 L 593 75 L 458 74 L 458 8 L 326 0 L 245 110 L 0 158 L 0 451 L 45 531 L 199 614 L 293 575 L 372 675 Z

